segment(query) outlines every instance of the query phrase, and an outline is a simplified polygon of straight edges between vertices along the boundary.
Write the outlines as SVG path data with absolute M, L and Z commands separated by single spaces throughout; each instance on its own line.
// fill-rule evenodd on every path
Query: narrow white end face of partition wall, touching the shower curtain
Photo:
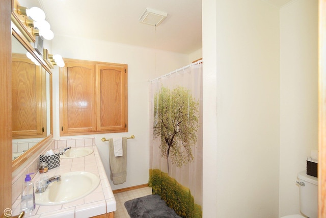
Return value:
M 216 0 L 202 0 L 203 217 L 218 217 L 216 29 Z

